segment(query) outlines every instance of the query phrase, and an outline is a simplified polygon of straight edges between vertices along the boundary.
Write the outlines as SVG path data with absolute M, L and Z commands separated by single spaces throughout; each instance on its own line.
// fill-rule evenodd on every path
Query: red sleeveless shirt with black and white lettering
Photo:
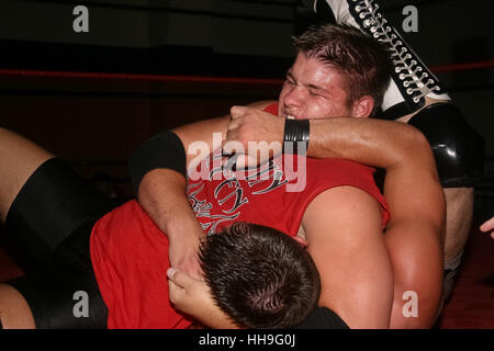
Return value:
M 273 113 L 274 107 L 267 111 Z M 247 174 L 225 172 L 214 168 L 215 163 L 212 154 L 201 163 L 209 179 L 189 180 L 188 186 L 191 206 L 206 234 L 242 220 L 295 236 L 311 201 L 341 185 L 372 195 L 381 204 L 383 226 L 389 219 L 386 202 L 373 181 L 373 169 L 359 163 L 280 157 Z M 109 308 L 109 328 L 190 326 L 168 299 L 168 239 L 135 201 L 96 224 L 90 247 L 97 281 Z

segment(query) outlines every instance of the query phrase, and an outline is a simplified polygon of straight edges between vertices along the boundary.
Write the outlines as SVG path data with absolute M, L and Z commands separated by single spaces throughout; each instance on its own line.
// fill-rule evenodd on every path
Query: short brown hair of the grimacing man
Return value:
M 349 102 L 363 95 L 374 100 L 374 114 L 390 84 L 392 63 L 384 44 L 357 29 L 336 24 L 310 26 L 293 37 L 297 53 L 337 69 L 345 78 Z

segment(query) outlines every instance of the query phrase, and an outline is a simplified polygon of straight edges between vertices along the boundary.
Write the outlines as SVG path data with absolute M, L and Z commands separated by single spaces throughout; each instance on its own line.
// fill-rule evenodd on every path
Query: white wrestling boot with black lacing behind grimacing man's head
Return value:
M 386 118 L 397 118 L 424 106 L 425 97 L 451 100 L 439 80 L 380 13 L 375 0 L 302 0 L 328 22 L 347 24 L 389 46 L 394 64 L 392 81 L 381 105 Z M 328 15 L 328 12 L 332 15 Z

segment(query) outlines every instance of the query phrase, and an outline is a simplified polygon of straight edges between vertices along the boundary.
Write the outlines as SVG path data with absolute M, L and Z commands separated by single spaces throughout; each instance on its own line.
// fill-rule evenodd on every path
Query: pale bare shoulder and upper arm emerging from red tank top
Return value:
M 378 202 L 356 188 L 330 189 L 311 202 L 302 225 L 321 274 L 319 306 L 350 328 L 388 328 L 393 272 Z

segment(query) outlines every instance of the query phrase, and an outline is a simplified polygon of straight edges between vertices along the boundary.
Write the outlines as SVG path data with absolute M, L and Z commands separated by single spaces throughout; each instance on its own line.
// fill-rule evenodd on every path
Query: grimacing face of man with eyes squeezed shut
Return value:
M 300 53 L 287 72 L 279 99 L 279 115 L 291 115 L 295 120 L 355 116 L 344 76 Z

